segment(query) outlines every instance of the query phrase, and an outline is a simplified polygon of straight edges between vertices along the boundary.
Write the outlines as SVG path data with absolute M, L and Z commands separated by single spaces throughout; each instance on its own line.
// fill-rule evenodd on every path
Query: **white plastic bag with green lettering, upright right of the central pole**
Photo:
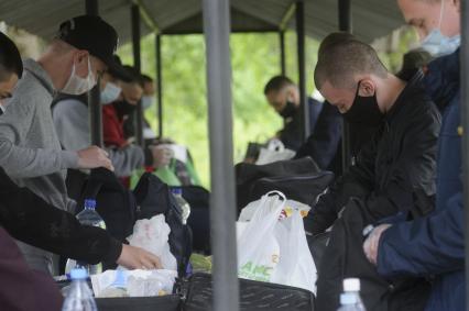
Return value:
M 271 196 L 274 195 L 274 196 Z M 316 292 L 317 271 L 310 255 L 301 210 L 281 218 L 285 197 L 272 191 L 257 201 L 252 219 L 238 238 L 238 275 Z

